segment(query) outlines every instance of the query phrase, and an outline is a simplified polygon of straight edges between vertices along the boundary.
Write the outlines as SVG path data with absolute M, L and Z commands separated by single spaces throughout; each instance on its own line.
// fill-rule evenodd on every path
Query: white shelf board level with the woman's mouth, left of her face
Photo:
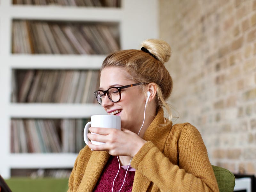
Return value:
M 10 104 L 13 118 L 87 118 L 91 115 L 107 114 L 99 104 Z

